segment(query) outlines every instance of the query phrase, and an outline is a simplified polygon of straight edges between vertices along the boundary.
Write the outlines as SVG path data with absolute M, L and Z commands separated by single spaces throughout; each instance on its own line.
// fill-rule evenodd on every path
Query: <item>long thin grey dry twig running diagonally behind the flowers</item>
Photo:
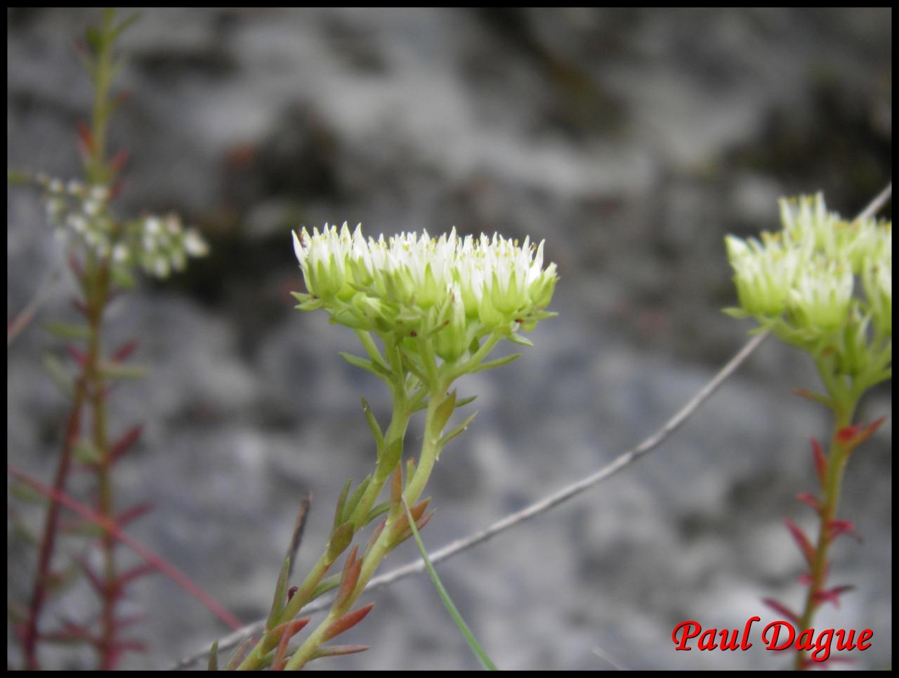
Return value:
M 862 210 L 859 213 L 859 216 L 856 219 L 870 219 L 877 211 L 880 210 L 887 201 L 890 200 L 893 194 L 893 183 L 889 183 L 886 188 L 881 191 L 877 197 L 872 200 L 868 207 Z M 708 384 L 706 384 L 703 388 L 699 390 L 699 393 L 696 396 L 690 399 L 685 406 L 681 407 L 681 410 L 678 411 L 677 414 L 672 416 L 663 426 L 646 438 L 643 442 L 640 442 L 636 447 L 628 450 L 626 452 L 622 452 L 617 459 L 612 461 L 609 465 L 601 468 L 599 471 L 594 473 L 592 476 L 583 478 L 583 480 L 579 480 L 573 483 L 570 486 L 567 486 L 554 495 L 549 495 L 546 499 L 542 499 L 539 502 L 534 504 L 530 504 L 530 506 L 522 509 L 519 512 L 512 513 L 511 515 L 506 516 L 502 520 L 494 522 L 493 525 L 486 528 L 485 530 L 476 532 L 471 534 L 463 539 L 453 541 L 447 546 L 443 547 L 438 551 L 434 551 L 431 554 L 431 562 L 433 565 L 437 565 L 443 560 L 446 560 L 450 556 L 455 556 L 457 553 L 464 551 L 466 549 L 470 549 L 476 544 L 481 543 L 482 541 L 489 540 L 491 537 L 494 537 L 496 534 L 500 532 L 509 530 L 515 525 L 520 524 L 521 522 L 527 521 L 529 518 L 533 518 L 540 513 L 546 513 L 549 509 L 553 508 L 558 504 L 562 504 L 568 499 L 581 494 L 582 492 L 590 489 L 593 486 L 599 485 L 602 481 L 607 480 L 608 478 L 614 476 L 619 472 L 622 468 L 626 468 L 633 464 L 636 459 L 639 459 L 646 452 L 654 450 L 654 448 L 658 447 L 669 435 L 674 433 L 677 429 L 690 418 L 696 410 L 699 409 L 706 400 L 715 391 L 718 387 L 724 383 L 725 379 L 730 377 L 731 374 L 734 373 L 743 361 L 749 358 L 752 355 L 752 352 L 755 351 L 756 348 L 759 347 L 765 338 L 769 335 L 768 332 L 761 332 L 758 335 L 752 337 L 752 339 L 740 349 L 739 352 L 731 358 L 730 361 L 725 364 L 725 366 L 718 371 L 718 373 L 713 377 Z M 396 567 L 396 569 L 391 570 L 390 572 L 385 573 L 384 575 L 374 577 L 369 585 L 365 587 L 365 591 L 374 591 L 379 588 L 383 588 L 388 584 L 393 584 L 394 582 L 405 578 L 409 575 L 414 575 L 415 573 L 421 572 L 424 569 L 424 563 L 422 560 L 418 559 L 412 563 L 408 563 L 404 566 Z M 330 605 L 330 598 L 327 596 L 323 596 L 322 599 L 313 602 L 303 608 L 304 613 L 312 613 L 320 610 L 325 610 Z M 235 647 L 238 643 L 240 643 L 244 638 L 249 637 L 254 633 L 259 633 L 265 626 L 265 620 L 256 621 L 253 624 L 249 624 L 242 629 L 237 629 L 226 638 L 222 638 L 218 641 L 219 649 L 227 649 L 229 647 Z M 172 666 L 172 669 L 185 669 L 189 668 L 191 665 L 196 664 L 197 662 L 205 659 L 209 656 L 209 650 L 203 649 L 200 652 L 185 657 L 176 665 Z

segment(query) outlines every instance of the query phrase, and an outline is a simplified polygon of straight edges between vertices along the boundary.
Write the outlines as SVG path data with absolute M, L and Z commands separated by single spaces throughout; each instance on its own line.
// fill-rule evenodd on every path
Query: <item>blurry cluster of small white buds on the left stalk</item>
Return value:
M 44 189 L 48 218 L 58 236 L 75 236 L 93 254 L 110 258 L 120 280 L 130 278 L 134 264 L 165 278 L 172 271 L 182 271 L 188 256 L 209 253 L 200 233 L 182 227 L 174 214 L 116 222 L 108 210 L 111 196 L 106 186 L 75 180 L 64 183 L 47 174 L 38 174 L 35 181 Z

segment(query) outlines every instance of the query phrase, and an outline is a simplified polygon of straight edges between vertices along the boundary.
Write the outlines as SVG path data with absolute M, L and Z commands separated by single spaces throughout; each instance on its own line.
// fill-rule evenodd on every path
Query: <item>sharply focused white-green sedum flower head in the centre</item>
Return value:
M 543 243 L 494 235 L 362 235 L 343 227 L 293 234 L 306 281 L 298 308 L 325 308 L 334 322 L 375 332 L 388 343 L 421 337 L 443 361 L 470 354 L 485 335 L 517 335 L 549 317 L 556 264 L 543 266 Z

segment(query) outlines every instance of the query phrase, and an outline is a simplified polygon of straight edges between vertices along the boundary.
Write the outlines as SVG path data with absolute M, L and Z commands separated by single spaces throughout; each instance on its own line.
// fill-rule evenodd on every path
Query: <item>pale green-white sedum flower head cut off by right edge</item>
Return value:
M 739 308 L 762 327 L 832 361 L 838 373 L 880 380 L 892 364 L 893 225 L 846 221 L 821 194 L 780 201 L 782 230 L 727 236 Z

